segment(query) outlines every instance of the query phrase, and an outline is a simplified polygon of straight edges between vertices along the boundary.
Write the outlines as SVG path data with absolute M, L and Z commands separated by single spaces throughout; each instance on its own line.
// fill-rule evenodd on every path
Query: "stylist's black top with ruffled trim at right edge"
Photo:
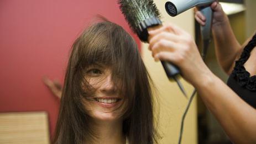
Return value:
M 250 52 L 256 46 L 256 34 L 252 40 L 245 46 L 240 59 L 228 78 L 227 85 L 232 88 L 245 102 L 256 108 L 256 75 L 250 76 L 250 73 L 244 68 L 244 63 L 250 57 Z

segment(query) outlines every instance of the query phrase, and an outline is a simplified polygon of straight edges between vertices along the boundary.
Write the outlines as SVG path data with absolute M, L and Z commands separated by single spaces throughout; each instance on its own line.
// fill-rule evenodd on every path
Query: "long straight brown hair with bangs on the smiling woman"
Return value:
M 83 88 L 90 89 L 85 68 L 95 63 L 111 66 L 113 81 L 121 79 L 120 91 L 127 102 L 123 134 L 129 143 L 157 143 L 152 83 L 137 44 L 121 26 L 106 20 L 88 27 L 72 45 L 54 143 L 83 143 L 96 136 L 82 102 L 90 95 Z

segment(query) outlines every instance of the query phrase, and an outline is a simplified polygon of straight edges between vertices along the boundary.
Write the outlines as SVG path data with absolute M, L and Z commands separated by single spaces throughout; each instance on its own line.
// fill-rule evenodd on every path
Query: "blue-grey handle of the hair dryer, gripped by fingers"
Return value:
M 211 39 L 211 26 L 212 26 L 212 9 L 211 7 L 200 7 L 200 12 L 205 16 L 206 23 L 200 26 L 201 35 L 203 40 Z

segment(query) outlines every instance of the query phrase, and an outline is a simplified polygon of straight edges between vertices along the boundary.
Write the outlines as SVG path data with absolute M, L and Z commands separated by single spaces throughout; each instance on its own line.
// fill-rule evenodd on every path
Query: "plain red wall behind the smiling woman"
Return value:
M 53 136 L 60 103 L 41 78 L 63 82 L 72 42 L 97 14 L 132 34 L 117 0 L 0 1 L 0 112 L 47 111 Z

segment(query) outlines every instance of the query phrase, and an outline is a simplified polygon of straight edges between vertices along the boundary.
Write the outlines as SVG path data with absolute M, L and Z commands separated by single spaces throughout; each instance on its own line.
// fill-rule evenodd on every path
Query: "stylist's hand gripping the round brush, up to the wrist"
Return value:
M 156 61 L 165 60 L 181 69 L 185 80 L 192 85 L 202 76 L 211 74 L 203 62 L 192 36 L 174 24 L 149 31 L 149 49 Z

